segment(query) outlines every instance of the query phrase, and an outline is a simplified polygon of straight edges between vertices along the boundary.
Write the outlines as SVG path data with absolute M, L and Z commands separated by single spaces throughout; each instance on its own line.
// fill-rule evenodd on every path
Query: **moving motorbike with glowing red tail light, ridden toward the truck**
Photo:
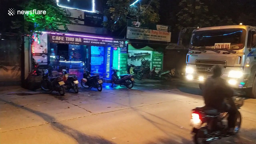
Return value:
M 243 98 L 232 97 L 232 100 L 237 109 L 243 106 Z M 231 136 L 227 134 L 227 116 L 227 112 L 220 113 L 218 110 L 211 107 L 203 106 L 193 109 L 191 113 L 191 126 L 193 126 L 192 133 L 194 134 L 194 143 L 209 144 L 212 141 Z M 241 120 L 241 113 L 238 111 L 234 134 L 237 134 L 240 130 Z

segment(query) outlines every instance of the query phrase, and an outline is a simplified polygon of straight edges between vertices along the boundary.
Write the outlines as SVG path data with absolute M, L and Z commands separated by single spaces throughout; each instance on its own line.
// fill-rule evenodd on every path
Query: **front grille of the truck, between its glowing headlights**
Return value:
M 223 65 L 226 68 L 226 61 L 223 60 L 196 60 L 196 72 L 204 75 L 212 75 L 212 71 L 206 71 L 214 65 Z M 223 73 L 222 73 L 223 74 Z

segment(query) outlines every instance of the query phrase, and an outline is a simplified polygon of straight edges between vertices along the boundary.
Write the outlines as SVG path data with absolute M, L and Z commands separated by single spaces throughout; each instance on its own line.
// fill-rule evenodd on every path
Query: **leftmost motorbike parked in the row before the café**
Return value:
M 65 95 L 65 82 L 60 76 L 50 77 L 49 69 L 44 70 L 43 80 L 41 81 L 41 88 L 44 91 L 57 91 L 60 95 Z

